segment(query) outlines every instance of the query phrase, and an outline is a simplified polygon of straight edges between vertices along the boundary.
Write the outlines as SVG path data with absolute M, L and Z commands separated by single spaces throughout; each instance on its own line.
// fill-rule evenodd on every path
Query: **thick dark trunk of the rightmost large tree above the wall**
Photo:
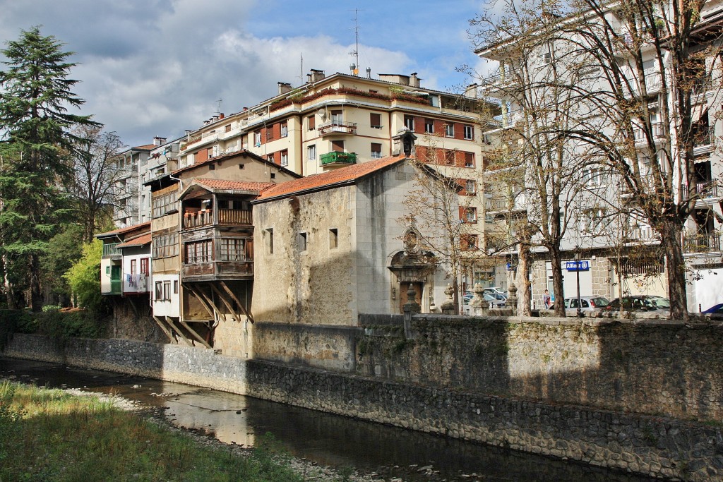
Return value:
M 685 259 L 683 258 L 683 226 L 675 220 L 666 220 L 662 226 L 662 244 L 668 278 L 670 319 L 688 320 L 688 293 L 685 286 Z

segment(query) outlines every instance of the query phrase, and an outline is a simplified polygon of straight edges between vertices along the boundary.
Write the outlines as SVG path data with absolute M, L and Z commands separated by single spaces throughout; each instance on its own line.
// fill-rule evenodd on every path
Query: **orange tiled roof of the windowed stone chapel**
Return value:
M 364 176 L 388 168 L 404 159 L 406 159 L 404 155 L 375 159 L 370 160 L 368 163 L 349 165 L 346 168 L 314 174 L 301 179 L 294 179 L 294 181 L 286 181 L 266 189 L 259 195 L 258 199 L 269 199 L 271 197 L 294 194 L 301 191 L 328 189 L 335 184 L 357 181 Z

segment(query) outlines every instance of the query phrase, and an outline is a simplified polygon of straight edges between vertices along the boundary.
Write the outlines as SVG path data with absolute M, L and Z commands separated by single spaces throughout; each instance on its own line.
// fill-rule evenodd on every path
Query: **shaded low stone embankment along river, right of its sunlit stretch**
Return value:
M 723 481 L 720 427 L 248 361 L 248 395 L 536 454 Z

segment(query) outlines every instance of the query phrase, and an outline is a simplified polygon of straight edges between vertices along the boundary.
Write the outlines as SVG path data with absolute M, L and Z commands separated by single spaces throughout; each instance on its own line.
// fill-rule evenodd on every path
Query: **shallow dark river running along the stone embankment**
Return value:
M 657 479 L 296 408 L 243 395 L 54 363 L 0 358 L 0 378 L 121 395 L 168 421 L 252 447 L 270 432 L 288 452 L 385 480 L 643 482 Z M 431 468 L 429 468 L 431 466 Z

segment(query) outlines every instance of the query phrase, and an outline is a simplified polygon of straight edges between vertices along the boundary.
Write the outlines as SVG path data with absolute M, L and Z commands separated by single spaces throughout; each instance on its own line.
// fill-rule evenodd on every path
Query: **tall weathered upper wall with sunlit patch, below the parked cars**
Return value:
M 444 317 L 372 325 L 361 375 L 649 415 L 723 420 L 723 324 Z

